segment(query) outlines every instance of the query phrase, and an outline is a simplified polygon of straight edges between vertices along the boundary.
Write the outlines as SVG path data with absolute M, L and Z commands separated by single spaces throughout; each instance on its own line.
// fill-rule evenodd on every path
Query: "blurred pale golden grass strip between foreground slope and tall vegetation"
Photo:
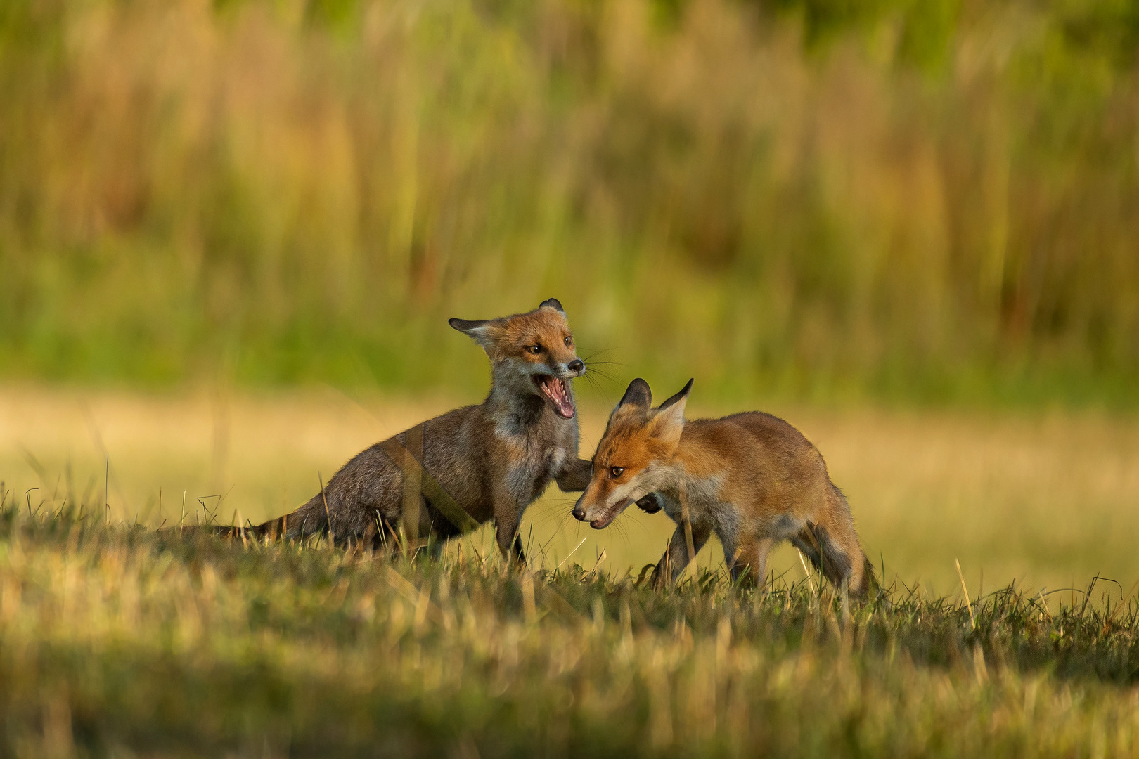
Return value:
M 333 389 L 174 396 L 7 387 L 0 390 L 0 479 L 9 497 L 33 509 L 41 500 L 58 505 L 68 492 L 101 502 L 109 453 L 108 501 L 116 518 L 157 525 L 161 494 L 161 520 L 177 522 L 185 492 L 189 520 L 205 504 L 222 521 L 235 514 L 257 521 L 295 508 L 317 490 L 318 472 L 327 481 L 367 445 L 475 401 L 352 399 Z M 867 552 L 876 564 L 885 561 L 891 578 L 953 595 L 959 559 L 973 595 L 1014 579 L 1031 589 L 1083 588 L 1097 572 L 1124 589 L 1139 580 L 1134 419 L 767 410 L 822 451 L 850 497 Z M 727 411 L 694 398 L 690 415 Z M 607 412 L 581 410 L 583 455 Z M 572 501 L 552 487 L 524 523 L 531 555 L 548 569 L 565 560 L 566 567 L 591 567 L 604 550 L 606 569 L 639 570 L 659 556 L 672 530 L 662 514 L 629 512 L 596 533 L 567 517 Z M 485 554 L 493 550 L 490 535 L 484 528 L 467 543 Z M 700 555 L 705 567 L 722 561 L 716 545 Z M 773 568 L 802 578 L 788 547 Z M 1100 588 L 1120 595 L 1114 586 Z

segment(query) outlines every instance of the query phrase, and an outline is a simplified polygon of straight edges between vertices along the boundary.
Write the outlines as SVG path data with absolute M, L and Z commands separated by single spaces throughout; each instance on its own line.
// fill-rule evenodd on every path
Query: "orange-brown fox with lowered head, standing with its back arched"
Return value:
M 761 412 L 686 421 L 691 387 L 688 380 L 653 409 L 648 383 L 629 385 L 597 444 L 593 473 L 573 515 L 601 529 L 655 494 L 677 522 L 656 567 L 658 580 L 674 583 L 715 533 L 732 578 L 762 584 L 771 546 L 789 539 L 836 587 L 849 584 L 852 594 L 865 595 L 874 567 L 818 449 Z

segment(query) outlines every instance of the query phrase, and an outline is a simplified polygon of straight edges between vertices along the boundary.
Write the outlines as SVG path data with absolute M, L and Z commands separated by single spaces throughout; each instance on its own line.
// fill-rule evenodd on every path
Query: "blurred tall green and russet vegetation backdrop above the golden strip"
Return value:
M 5 0 L 0 376 L 1130 404 L 1137 8 Z

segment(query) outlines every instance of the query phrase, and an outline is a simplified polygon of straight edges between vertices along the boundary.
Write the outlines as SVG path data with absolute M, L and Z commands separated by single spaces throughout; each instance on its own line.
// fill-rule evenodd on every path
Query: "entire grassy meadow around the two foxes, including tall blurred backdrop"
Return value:
M 1139 5 L 0 0 L 0 756 L 1139 757 Z M 566 306 L 882 588 L 223 541 Z

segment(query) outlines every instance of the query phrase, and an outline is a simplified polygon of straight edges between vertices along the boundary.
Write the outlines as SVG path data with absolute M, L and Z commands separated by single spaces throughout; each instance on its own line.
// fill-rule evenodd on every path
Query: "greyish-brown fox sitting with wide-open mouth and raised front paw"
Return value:
M 448 538 L 493 519 L 502 553 L 513 546 L 525 561 L 517 533 L 526 506 L 550 480 L 567 492 L 589 482 L 590 462 L 577 457 L 572 387 L 585 364 L 554 298 L 528 313 L 450 324 L 491 360 L 486 399 L 363 451 L 303 506 L 249 528 L 255 535 L 321 531 L 337 543 L 379 543 L 396 535 L 402 519 L 409 533 Z

